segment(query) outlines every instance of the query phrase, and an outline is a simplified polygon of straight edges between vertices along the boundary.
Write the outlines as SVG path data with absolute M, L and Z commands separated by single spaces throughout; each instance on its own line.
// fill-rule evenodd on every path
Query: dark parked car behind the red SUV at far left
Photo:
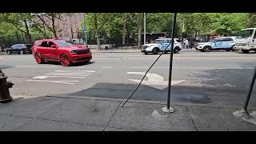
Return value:
M 13 46 L 10 46 L 10 48 L 6 48 L 7 54 L 32 54 L 31 50 L 32 45 L 31 44 L 15 44 Z

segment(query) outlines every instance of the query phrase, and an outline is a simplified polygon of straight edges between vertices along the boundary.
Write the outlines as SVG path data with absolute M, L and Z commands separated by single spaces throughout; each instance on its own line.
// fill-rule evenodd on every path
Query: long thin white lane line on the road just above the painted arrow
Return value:
M 150 67 L 130 67 L 131 69 L 148 69 Z M 152 67 L 152 69 L 169 69 L 169 67 Z M 173 67 L 173 69 L 218 69 L 218 70 L 229 70 L 229 69 L 254 69 L 253 67 Z

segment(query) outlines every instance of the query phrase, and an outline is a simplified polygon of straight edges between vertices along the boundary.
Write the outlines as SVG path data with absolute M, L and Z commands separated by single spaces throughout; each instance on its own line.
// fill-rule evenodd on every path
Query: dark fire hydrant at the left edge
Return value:
M 9 89 L 13 87 L 14 83 L 6 82 L 6 75 L 0 70 L 0 103 L 12 101 Z

